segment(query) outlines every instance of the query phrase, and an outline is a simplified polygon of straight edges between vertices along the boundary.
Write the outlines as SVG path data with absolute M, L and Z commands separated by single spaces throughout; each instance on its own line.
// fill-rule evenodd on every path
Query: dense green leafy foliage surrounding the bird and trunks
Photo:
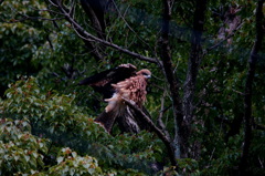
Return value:
M 64 1 L 66 9 L 74 7 L 68 12 L 84 31 L 110 44 L 85 39 L 54 6 L 56 0 L 0 1 L 0 175 L 265 175 L 264 41 L 252 84 L 250 141 L 244 123 L 248 61 L 254 43 L 262 40 L 256 39 L 262 0 L 206 1 L 184 157 L 178 154 L 176 128 L 181 124 L 172 80 L 160 62 L 161 45 L 167 44 L 161 30 L 165 1 L 112 1 L 105 29 L 89 18 L 83 0 Z M 194 0 L 171 4 L 169 55 L 180 103 L 186 103 L 191 38 L 198 32 L 197 6 Z M 127 134 L 115 126 L 110 135 L 94 123 L 106 104 L 77 83 L 120 63 L 151 70 L 146 107 L 171 136 L 176 166 L 156 133 Z M 247 167 L 240 170 L 248 142 Z

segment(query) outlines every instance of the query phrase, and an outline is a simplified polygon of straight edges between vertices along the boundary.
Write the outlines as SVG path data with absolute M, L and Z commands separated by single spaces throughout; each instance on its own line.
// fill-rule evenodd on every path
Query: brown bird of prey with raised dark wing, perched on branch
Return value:
M 147 112 L 144 103 L 147 94 L 147 80 L 150 77 L 149 70 L 142 69 L 137 72 L 137 68 L 128 63 L 89 76 L 81 81 L 80 85 L 92 86 L 102 93 L 108 103 L 104 112 L 95 120 L 108 133 L 112 132 L 115 122 L 118 123 L 123 132 L 138 133 L 147 127 L 124 100 L 132 101 L 138 107 Z

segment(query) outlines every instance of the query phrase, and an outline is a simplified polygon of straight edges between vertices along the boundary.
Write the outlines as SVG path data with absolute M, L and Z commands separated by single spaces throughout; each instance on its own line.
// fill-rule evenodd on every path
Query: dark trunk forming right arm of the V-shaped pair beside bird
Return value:
M 184 148 L 188 149 L 188 139 L 191 133 L 191 123 L 193 121 L 193 96 L 195 93 L 197 76 L 199 65 L 202 60 L 203 53 L 201 48 L 201 38 L 203 32 L 204 15 L 206 10 L 206 0 L 198 0 L 194 19 L 193 19 L 193 33 L 191 38 L 191 51 L 189 58 L 188 73 L 184 83 L 183 96 L 183 123 L 180 126 L 181 141 Z M 184 152 L 183 157 L 188 157 L 188 152 Z

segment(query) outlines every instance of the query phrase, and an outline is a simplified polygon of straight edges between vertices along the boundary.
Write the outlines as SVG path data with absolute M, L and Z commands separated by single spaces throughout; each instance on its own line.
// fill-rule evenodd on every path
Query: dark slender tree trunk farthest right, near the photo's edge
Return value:
M 246 83 L 245 83 L 245 95 L 244 95 L 244 145 L 242 151 L 241 164 L 240 164 L 240 172 L 241 175 L 247 175 L 247 158 L 250 154 L 250 146 L 252 141 L 252 84 L 254 81 L 255 70 L 256 70 L 256 62 L 258 59 L 258 51 L 262 48 L 262 40 L 264 37 L 264 29 L 263 29 L 263 3 L 264 0 L 258 0 L 257 8 L 256 8 L 256 40 L 253 45 L 251 56 L 248 60 L 248 72 L 246 75 Z

